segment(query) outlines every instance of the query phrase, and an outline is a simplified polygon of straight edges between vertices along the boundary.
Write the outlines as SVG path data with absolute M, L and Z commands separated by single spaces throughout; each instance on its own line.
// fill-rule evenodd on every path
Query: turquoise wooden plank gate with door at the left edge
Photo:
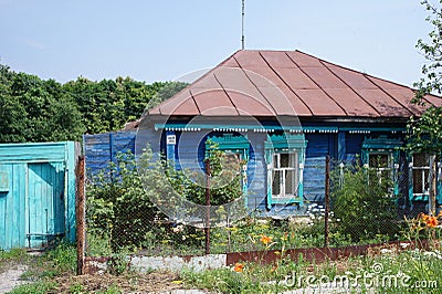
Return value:
M 73 141 L 0 144 L 0 249 L 75 241 Z

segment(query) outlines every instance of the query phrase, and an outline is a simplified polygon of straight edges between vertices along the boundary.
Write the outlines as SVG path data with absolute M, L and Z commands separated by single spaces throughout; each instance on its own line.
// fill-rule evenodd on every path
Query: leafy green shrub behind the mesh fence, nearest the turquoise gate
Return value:
M 160 216 L 141 185 L 131 153 L 117 155 L 109 172 L 98 174 L 87 187 L 90 241 L 110 240 L 114 252 L 140 248 L 148 232 L 160 233 L 160 228 L 152 225 Z

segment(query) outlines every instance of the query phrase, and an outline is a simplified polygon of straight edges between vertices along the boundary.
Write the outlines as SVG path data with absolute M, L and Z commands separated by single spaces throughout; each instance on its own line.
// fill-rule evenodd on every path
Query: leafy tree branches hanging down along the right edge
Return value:
M 422 66 L 422 77 L 414 86 L 418 87 L 414 103 L 425 105 L 424 96 L 431 93 L 442 94 L 442 0 L 439 4 L 428 0 L 421 2 L 430 12 L 427 21 L 432 25 L 429 40 L 418 41 L 417 48 L 425 56 L 428 64 Z M 411 118 L 408 124 L 409 145 L 415 151 L 442 151 L 442 108 L 430 106 L 419 118 Z

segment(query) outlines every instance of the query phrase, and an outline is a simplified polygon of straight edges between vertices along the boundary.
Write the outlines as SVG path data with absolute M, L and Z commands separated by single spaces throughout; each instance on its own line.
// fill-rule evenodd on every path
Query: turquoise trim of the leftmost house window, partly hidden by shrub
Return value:
M 242 159 L 249 162 L 250 159 L 250 141 L 246 136 L 233 136 L 231 134 L 224 134 L 222 136 L 209 137 L 206 141 L 206 155 L 209 157 L 210 150 L 213 150 L 213 146 L 217 146 L 217 150 L 240 153 Z M 245 165 L 246 167 L 246 165 Z M 248 206 L 248 169 L 242 168 L 242 192 L 245 198 L 245 206 Z

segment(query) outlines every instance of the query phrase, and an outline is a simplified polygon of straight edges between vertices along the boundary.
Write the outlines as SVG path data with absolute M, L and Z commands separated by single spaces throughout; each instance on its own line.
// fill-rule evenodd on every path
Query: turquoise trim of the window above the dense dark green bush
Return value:
M 387 136 L 379 136 L 377 138 L 365 138 L 362 141 L 361 159 L 364 165 L 368 165 L 370 154 L 385 154 L 391 156 L 392 159 L 392 180 L 393 180 L 393 196 L 399 195 L 399 159 L 400 149 L 403 141 L 400 139 L 391 139 Z

